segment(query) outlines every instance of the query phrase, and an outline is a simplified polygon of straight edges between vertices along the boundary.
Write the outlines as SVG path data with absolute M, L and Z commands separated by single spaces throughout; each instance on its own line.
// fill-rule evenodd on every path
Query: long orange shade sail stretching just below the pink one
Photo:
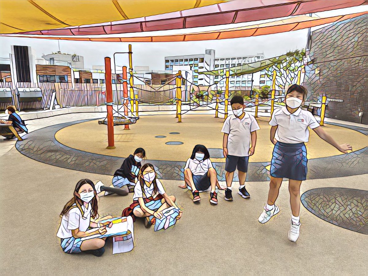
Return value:
M 268 35 L 280 32 L 290 32 L 300 29 L 310 28 L 323 24 L 339 22 L 354 18 L 368 12 L 354 13 L 348 15 L 338 15 L 334 17 L 309 17 L 299 15 L 285 20 L 277 20 L 273 22 L 250 25 L 241 28 L 222 29 L 217 31 L 183 33 L 176 35 L 157 35 L 157 36 L 132 36 L 132 37 L 109 37 L 109 36 L 44 36 L 44 35 L 3 35 L 3 36 L 20 36 L 28 38 L 47 38 L 62 40 L 79 40 L 79 41 L 100 41 L 100 42 L 178 42 L 178 41 L 197 41 L 197 40 L 215 40 L 229 38 L 244 38 L 248 36 Z

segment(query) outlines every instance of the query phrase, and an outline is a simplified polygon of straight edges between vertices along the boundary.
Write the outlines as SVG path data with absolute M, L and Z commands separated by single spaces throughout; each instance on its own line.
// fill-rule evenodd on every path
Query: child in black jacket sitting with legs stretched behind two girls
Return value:
M 96 190 L 99 196 L 109 194 L 127 195 L 129 192 L 132 192 L 141 169 L 141 161 L 145 156 L 145 150 L 138 148 L 134 151 L 134 155 L 129 155 L 125 158 L 120 169 L 114 173 L 113 187 L 103 186 L 101 182 L 96 183 Z

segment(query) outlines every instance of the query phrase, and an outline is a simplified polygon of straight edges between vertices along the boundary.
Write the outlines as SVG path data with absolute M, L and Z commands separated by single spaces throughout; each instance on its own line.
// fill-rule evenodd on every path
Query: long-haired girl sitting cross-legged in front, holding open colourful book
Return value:
M 57 237 L 61 239 L 61 248 L 65 253 L 89 253 L 95 256 L 102 256 L 105 252 L 106 238 L 91 238 L 82 241 L 81 238 L 95 234 L 105 234 L 106 227 L 111 227 L 112 223 L 95 223 L 91 217 L 96 219 L 98 206 L 96 199 L 95 185 L 89 179 L 80 180 L 74 189 L 73 198 L 64 206 L 61 212 L 61 223 Z M 106 216 L 101 219 L 109 219 Z M 88 230 L 89 228 L 96 228 Z

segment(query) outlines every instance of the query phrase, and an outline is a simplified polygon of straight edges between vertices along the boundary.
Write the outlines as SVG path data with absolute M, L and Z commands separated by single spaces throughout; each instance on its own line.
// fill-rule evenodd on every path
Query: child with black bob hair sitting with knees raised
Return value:
M 209 153 L 204 145 L 196 145 L 192 156 L 187 160 L 184 167 L 184 180 L 188 189 L 192 190 L 193 202 L 201 200 L 199 191 L 206 191 L 211 187 L 209 202 L 217 204 L 216 185 L 217 173 L 209 159 Z

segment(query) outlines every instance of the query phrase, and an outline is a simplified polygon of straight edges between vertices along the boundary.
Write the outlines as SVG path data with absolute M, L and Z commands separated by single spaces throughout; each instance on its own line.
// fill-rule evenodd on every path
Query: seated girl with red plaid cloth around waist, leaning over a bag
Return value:
M 180 219 L 182 211 L 175 204 L 176 198 L 167 195 L 162 183 L 156 178 L 152 164 L 144 164 L 139 173 L 138 182 L 134 187 L 133 203 L 123 210 L 123 216 L 145 217 L 145 226 L 151 226 L 155 218 L 162 218 L 162 210 L 174 206 L 179 210 Z

